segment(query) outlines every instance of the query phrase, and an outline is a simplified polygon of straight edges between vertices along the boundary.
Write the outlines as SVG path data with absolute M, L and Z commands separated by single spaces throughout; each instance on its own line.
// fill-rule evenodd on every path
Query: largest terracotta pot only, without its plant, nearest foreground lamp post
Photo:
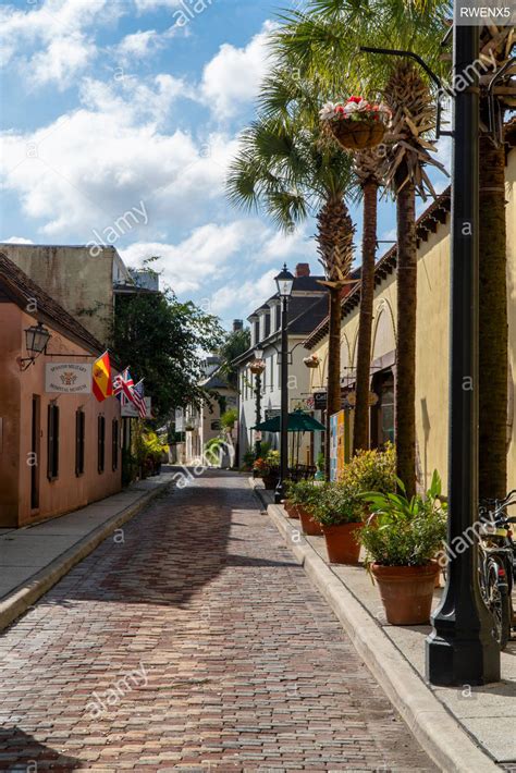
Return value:
M 389 623 L 392 625 L 426 625 L 430 621 L 433 588 L 439 564 L 425 566 L 380 566 L 371 572 L 380 588 Z

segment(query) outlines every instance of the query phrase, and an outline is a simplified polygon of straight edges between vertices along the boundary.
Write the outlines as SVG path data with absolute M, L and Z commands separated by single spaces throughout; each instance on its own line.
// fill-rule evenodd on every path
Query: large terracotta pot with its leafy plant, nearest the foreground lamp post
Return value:
M 437 471 L 425 496 L 367 493 L 373 513 L 360 531 L 366 564 L 377 580 L 389 623 L 425 625 L 429 622 L 435 575 L 434 556 L 446 536 L 445 510 L 439 501 L 441 479 Z

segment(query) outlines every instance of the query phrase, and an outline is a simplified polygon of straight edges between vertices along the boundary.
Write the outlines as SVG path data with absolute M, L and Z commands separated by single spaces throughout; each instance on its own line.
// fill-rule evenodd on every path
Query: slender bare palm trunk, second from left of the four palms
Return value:
M 369 381 L 377 251 L 378 184 L 368 180 L 364 191 L 364 234 L 361 250 L 360 317 L 358 328 L 355 424 L 353 453 L 369 447 Z

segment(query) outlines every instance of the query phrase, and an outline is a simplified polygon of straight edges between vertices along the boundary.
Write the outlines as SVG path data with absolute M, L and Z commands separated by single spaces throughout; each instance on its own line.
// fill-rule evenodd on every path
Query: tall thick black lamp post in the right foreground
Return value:
M 457 4 L 457 3 L 456 3 Z M 476 73 L 479 27 L 454 25 L 454 74 Z M 478 519 L 478 77 L 454 99 L 452 171 L 452 312 L 449 444 L 449 579 L 427 639 L 433 685 L 483 685 L 500 679 L 500 650 L 478 582 L 477 540 L 454 554 L 454 540 Z M 472 389 L 468 384 L 472 383 Z M 470 541 L 470 540 L 468 540 Z

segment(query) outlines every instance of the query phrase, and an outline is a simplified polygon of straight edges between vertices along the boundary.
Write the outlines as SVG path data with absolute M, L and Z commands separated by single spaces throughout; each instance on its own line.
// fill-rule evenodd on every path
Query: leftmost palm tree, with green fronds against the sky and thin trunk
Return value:
M 258 120 L 241 137 L 228 193 L 236 206 L 261 206 L 284 231 L 316 214 L 317 248 L 329 292 L 328 476 L 329 417 L 341 409 L 341 296 L 353 261 L 354 226 L 345 201 L 353 195 L 352 160 L 320 130 L 317 84 L 275 69 L 263 83 L 259 105 Z

